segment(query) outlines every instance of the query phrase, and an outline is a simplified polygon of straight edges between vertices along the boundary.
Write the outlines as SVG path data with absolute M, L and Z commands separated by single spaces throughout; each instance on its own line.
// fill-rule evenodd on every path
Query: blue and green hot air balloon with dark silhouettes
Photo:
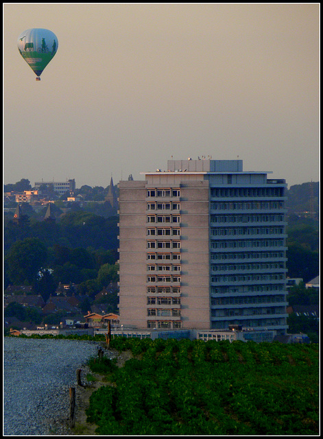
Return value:
M 27 29 L 19 35 L 18 49 L 40 81 L 43 70 L 58 49 L 57 36 L 47 29 Z

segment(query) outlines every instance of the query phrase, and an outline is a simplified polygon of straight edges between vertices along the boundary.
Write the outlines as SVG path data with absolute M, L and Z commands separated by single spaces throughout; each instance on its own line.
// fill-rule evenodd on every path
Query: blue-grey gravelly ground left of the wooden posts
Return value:
M 4 337 L 3 434 L 68 434 L 69 388 L 97 342 Z

